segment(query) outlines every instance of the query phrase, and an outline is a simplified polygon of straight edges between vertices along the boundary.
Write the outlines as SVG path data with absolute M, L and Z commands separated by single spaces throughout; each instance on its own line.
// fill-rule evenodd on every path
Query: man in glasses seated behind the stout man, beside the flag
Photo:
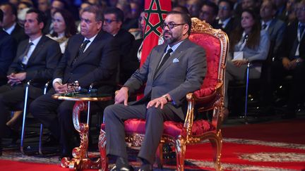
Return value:
M 132 65 L 128 65 L 128 53 L 134 41 L 134 37 L 130 32 L 121 28 L 124 21 L 124 13 L 119 8 L 107 8 L 104 11 L 104 25 L 103 30 L 114 36 L 116 44 L 120 51 L 120 68 L 119 68 L 119 82 L 124 83 L 132 74 Z

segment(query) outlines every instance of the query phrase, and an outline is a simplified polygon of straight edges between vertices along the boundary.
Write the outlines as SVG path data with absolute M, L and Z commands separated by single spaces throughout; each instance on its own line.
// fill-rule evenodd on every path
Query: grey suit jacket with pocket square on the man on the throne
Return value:
M 168 93 L 173 102 L 167 105 L 184 120 L 186 94 L 200 89 L 205 77 L 205 51 L 186 39 L 155 75 L 166 47 L 167 44 L 155 46 L 142 67 L 134 72 L 124 86 L 129 87 L 133 93 L 146 82 L 143 99 L 131 102 L 130 105 L 147 102 Z

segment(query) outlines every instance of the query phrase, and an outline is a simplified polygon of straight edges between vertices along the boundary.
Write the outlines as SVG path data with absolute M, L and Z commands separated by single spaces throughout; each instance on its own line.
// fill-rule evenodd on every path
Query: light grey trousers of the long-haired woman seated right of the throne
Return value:
M 246 68 L 247 65 L 241 65 L 240 67 L 235 66 L 232 61 L 227 61 L 226 65 L 226 75 L 225 75 L 225 107 L 227 108 L 229 103 L 229 97 L 227 95 L 227 89 L 229 85 L 229 81 L 232 80 L 246 80 Z M 261 72 L 256 70 L 255 68 L 250 68 L 249 78 L 259 78 L 261 76 Z

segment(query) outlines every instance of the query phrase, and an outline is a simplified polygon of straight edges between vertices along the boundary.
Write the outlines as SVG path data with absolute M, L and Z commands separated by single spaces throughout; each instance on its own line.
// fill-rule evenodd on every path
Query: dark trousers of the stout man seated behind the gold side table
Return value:
M 60 139 L 64 149 L 71 150 L 76 144 L 71 144 L 73 134 L 77 133 L 73 125 L 73 106 L 75 101 L 52 99 L 56 92 L 50 89 L 47 94 L 35 99 L 30 105 L 32 115 L 40 120 L 50 132 Z M 100 110 L 99 106 L 91 103 L 91 110 Z

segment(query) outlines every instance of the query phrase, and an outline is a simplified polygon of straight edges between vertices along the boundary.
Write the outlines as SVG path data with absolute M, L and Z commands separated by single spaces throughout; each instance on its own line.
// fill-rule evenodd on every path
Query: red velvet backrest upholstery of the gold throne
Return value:
M 209 64 L 203 85 L 201 86 L 201 89 L 195 91 L 194 94 L 198 98 L 213 95 L 218 79 L 220 40 L 210 36 L 210 34 L 202 33 L 192 33 L 189 39 L 191 42 L 203 46 L 206 51 L 207 63 Z

